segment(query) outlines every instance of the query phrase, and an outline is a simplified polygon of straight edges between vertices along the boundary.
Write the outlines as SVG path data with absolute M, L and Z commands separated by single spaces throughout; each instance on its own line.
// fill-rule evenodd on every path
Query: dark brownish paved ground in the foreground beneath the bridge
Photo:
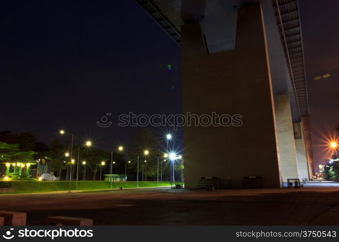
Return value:
M 92 218 L 94 225 L 339 225 L 339 185 L 302 189 L 146 189 L 0 195 L 1 210 Z

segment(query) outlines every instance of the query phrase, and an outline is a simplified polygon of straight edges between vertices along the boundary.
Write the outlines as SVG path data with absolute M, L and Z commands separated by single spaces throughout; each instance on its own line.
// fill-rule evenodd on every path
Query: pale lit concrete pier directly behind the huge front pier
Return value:
M 288 94 L 276 96 L 276 120 L 282 180 L 299 178 L 295 152 L 293 121 Z

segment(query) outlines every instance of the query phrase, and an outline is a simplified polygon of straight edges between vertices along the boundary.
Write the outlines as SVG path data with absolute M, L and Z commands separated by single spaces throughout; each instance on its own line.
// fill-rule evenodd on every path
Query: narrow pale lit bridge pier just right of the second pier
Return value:
M 300 181 L 303 178 L 309 179 L 309 167 L 307 162 L 306 146 L 304 133 L 302 132 L 301 122 L 295 122 L 294 125 L 294 142 L 295 142 L 295 151 L 297 154 L 297 163 L 298 163 L 298 175 Z

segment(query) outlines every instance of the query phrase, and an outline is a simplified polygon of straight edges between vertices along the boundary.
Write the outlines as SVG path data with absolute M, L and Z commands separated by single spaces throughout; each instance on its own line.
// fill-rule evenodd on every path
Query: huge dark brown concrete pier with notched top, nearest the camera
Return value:
M 270 67 L 259 4 L 238 10 L 235 49 L 209 55 L 198 22 L 182 31 L 183 111 L 241 114 L 240 127 L 184 126 L 185 187 L 200 177 L 262 176 L 280 187 L 280 169 Z

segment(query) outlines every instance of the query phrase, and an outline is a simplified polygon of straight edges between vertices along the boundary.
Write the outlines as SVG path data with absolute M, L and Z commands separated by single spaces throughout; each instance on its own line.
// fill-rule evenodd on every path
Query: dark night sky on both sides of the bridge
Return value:
M 339 124 L 338 9 L 337 0 L 300 0 L 316 165 Z M 118 127 L 118 115 L 182 112 L 180 47 L 134 0 L 11 0 L 0 11 L 0 131 L 49 143 L 63 128 L 109 151 L 138 130 Z M 101 128 L 106 113 L 113 124 Z

